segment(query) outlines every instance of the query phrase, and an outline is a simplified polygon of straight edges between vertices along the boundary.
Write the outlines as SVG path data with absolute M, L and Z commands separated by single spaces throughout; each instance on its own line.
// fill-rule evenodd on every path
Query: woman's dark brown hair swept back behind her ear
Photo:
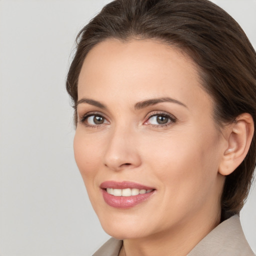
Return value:
M 256 123 L 256 53 L 236 21 L 208 0 L 114 0 L 77 35 L 66 89 L 77 102 L 77 80 L 88 51 L 106 38 L 154 38 L 181 49 L 197 64 L 215 102 L 218 125 L 244 112 Z M 77 122 L 76 109 L 74 113 Z M 255 134 L 243 162 L 226 177 L 221 218 L 239 213 L 255 167 Z

